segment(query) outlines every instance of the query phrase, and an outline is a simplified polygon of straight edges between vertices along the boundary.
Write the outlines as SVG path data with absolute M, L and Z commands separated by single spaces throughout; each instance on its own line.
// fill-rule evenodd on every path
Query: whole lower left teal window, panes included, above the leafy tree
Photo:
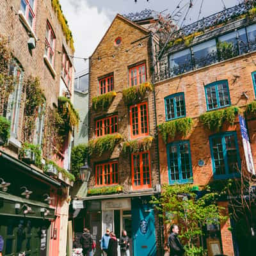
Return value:
M 192 164 L 189 141 L 167 145 L 169 183 L 192 182 Z

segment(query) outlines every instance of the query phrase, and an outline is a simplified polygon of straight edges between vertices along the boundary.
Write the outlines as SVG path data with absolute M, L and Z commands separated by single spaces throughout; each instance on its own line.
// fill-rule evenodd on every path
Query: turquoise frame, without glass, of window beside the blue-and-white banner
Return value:
M 225 136 L 234 136 L 235 138 L 235 144 L 236 144 L 236 154 L 237 154 L 237 164 L 238 168 L 241 170 L 241 158 L 239 155 L 239 148 L 237 143 L 237 133 L 234 132 L 222 132 L 219 134 L 214 134 L 212 136 L 209 136 L 209 143 L 210 143 L 210 149 L 211 149 L 211 160 L 212 160 L 212 173 L 214 179 L 230 179 L 235 177 L 240 177 L 240 173 L 228 173 L 228 161 L 227 161 L 227 150 L 225 145 Z M 221 138 L 221 145 L 223 150 L 223 157 L 224 157 L 224 163 L 225 163 L 225 174 L 216 174 L 216 168 L 215 168 L 215 161 L 214 161 L 214 153 L 212 148 L 212 139 L 213 138 Z

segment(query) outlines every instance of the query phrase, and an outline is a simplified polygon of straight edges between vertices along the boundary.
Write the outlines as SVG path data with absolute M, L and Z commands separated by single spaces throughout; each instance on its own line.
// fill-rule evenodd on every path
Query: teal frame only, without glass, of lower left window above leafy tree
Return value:
M 189 150 L 189 171 L 190 171 L 190 178 L 189 179 L 182 179 L 182 168 L 181 168 L 181 159 L 180 159 L 180 145 L 188 144 Z M 178 169 L 179 169 L 179 180 L 172 180 L 171 175 L 171 168 L 170 168 L 170 148 L 175 145 L 177 146 L 177 154 L 178 154 Z M 188 140 L 186 141 L 176 141 L 173 143 L 169 143 L 167 145 L 167 159 L 168 159 L 168 178 L 169 184 L 185 184 L 185 183 L 193 183 L 193 172 L 192 172 L 192 162 L 191 162 L 191 150 L 190 150 L 190 143 Z

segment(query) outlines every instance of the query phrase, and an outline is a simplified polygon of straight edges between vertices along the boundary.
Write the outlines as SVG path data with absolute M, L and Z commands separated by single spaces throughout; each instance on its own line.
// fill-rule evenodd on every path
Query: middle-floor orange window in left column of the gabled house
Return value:
M 109 132 L 108 132 L 108 129 L 109 129 Z M 116 132 L 118 132 L 117 115 L 109 116 L 96 121 L 96 126 L 95 126 L 96 138 L 107 135 L 107 134 L 114 134 Z

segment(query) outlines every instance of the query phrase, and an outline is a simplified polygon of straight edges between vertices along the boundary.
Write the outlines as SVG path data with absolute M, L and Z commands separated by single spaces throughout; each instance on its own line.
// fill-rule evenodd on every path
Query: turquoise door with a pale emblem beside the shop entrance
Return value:
M 154 209 L 148 200 L 132 200 L 132 239 L 134 256 L 156 256 Z

